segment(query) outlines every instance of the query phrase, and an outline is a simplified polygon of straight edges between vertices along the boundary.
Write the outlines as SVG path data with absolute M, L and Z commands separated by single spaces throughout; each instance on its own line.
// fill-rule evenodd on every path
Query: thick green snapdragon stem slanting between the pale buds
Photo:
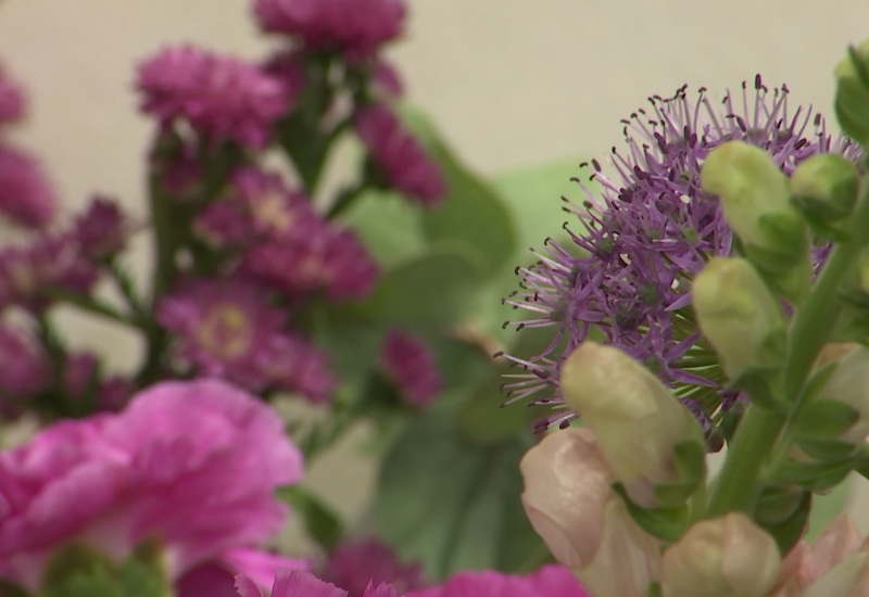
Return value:
M 818 277 L 811 293 L 794 315 L 788 339 L 788 357 L 781 384 L 781 396 L 792 404 L 792 416 L 802 403 L 803 386 L 811 364 L 827 342 L 842 302 L 839 293 L 861 249 L 869 240 L 869 185 L 864 185 L 857 208 L 851 218 L 848 237 L 837 243 Z M 748 406 L 736 430 L 725 466 L 715 482 L 707 516 L 716 517 L 733 510 L 751 513 L 760 491 L 760 474 L 789 418 Z M 790 441 L 790 434 L 784 439 Z

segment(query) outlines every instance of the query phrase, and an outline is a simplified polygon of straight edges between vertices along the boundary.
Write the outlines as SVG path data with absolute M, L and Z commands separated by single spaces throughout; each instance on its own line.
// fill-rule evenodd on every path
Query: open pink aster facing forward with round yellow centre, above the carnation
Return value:
M 262 364 L 272 359 L 286 315 L 250 283 L 198 279 L 163 296 L 156 320 L 173 332 L 174 354 L 182 364 L 261 391 L 269 382 Z

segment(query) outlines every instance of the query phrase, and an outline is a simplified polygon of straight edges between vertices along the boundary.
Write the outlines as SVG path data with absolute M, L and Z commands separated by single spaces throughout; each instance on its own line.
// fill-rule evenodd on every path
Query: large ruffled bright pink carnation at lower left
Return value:
M 55 423 L 0 453 L 0 577 L 34 587 L 60 546 L 122 559 L 148 537 L 169 579 L 279 530 L 302 457 L 280 418 L 216 380 L 167 382 L 118 415 Z

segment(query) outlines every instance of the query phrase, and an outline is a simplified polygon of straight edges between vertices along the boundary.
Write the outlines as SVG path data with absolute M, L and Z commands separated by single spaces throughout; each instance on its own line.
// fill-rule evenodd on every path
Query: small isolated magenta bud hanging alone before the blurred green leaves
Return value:
M 434 355 L 419 339 L 390 330 L 380 346 L 380 367 L 411 406 L 427 406 L 441 391 Z

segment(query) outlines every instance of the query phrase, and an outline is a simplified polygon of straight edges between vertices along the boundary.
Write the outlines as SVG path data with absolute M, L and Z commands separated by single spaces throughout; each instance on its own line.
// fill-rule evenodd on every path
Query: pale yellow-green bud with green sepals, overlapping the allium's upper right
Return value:
M 745 254 L 771 274 L 808 262 L 808 229 L 791 203 L 788 177 L 767 153 L 741 141 L 711 152 L 701 170 L 703 190 L 721 199 L 725 219 Z

